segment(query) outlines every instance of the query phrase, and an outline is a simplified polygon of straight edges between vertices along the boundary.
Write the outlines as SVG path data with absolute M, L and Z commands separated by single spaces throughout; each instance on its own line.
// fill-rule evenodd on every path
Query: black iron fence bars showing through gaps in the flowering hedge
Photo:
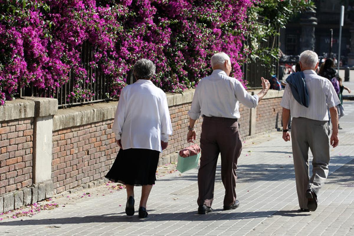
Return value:
M 250 42 L 248 42 L 250 43 Z M 269 37 L 268 40 L 263 41 L 261 48 L 278 48 L 278 36 Z M 90 62 L 93 61 L 93 55 L 97 52 L 97 49 L 93 49 L 89 42 L 85 42 L 81 47 L 81 60 L 84 64 L 84 68 L 87 73 L 85 75 L 85 81 L 76 81 L 74 73 L 70 71 L 69 80 L 67 83 L 58 87 L 56 89 L 42 89 L 33 86 L 30 84 L 22 88 L 17 94 L 17 96 L 36 96 L 36 97 L 52 97 L 58 99 L 59 108 L 64 108 L 73 105 L 80 105 L 86 103 L 102 102 L 111 100 L 108 95 L 112 78 L 108 75 L 105 75 L 100 67 L 95 68 L 90 66 Z M 270 52 L 269 52 L 270 53 Z M 263 76 L 266 79 L 274 74 L 278 74 L 278 59 L 273 58 L 270 63 L 264 63 L 261 59 L 250 59 L 247 63 L 244 63 L 242 67 L 242 72 L 244 73 L 244 79 L 247 80 L 247 86 L 249 88 L 259 88 L 261 87 L 261 77 Z M 127 73 L 126 82 L 127 84 L 132 84 L 136 79 L 133 76 L 132 71 Z M 78 85 L 79 88 L 75 89 L 75 85 Z M 157 84 L 157 86 L 159 86 Z M 85 97 L 83 94 L 79 96 L 72 96 L 72 93 L 76 91 L 90 91 L 93 96 Z

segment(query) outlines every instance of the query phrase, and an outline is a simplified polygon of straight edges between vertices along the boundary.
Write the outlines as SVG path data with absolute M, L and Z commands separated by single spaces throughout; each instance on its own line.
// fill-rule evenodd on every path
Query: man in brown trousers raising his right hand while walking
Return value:
M 239 206 L 236 200 L 236 165 L 241 154 L 242 142 L 239 136 L 239 102 L 255 108 L 267 93 L 269 81 L 263 77 L 263 89 L 251 96 L 241 82 L 230 77 L 231 61 L 223 52 L 211 57 L 213 72 L 199 81 L 195 90 L 187 140 L 195 139 L 195 121 L 203 117 L 200 136 L 201 159 L 198 172 L 198 213 L 212 212 L 216 164 L 221 153 L 221 179 L 225 187 L 224 210 Z

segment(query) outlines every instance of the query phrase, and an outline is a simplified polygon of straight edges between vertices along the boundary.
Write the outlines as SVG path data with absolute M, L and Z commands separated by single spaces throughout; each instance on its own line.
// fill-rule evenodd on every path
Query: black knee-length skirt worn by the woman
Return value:
M 120 149 L 117 157 L 105 175 L 112 182 L 135 186 L 153 185 L 160 152 L 150 149 Z

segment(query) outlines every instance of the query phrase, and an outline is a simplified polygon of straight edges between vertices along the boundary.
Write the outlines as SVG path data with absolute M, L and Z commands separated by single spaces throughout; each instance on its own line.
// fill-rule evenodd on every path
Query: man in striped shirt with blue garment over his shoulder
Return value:
M 338 115 L 336 105 L 340 104 L 330 80 L 316 74 L 318 56 L 307 50 L 300 55 L 302 72 L 289 76 L 280 105 L 283 107 L 283 139 L 290 140 L 287 128 L 290 114 L 292 116 L 291 139 L 295 167 L 297 197 L 300 210 L 315 211 L 317 195 L 328 175 L 330 161 L 330 144 L 338 145 Z M 301 74 L 303 73 L 303 74 Z M 303 94 L 299 96 L 299 94 Z M 331 114 L 332 135 L 328 111 Z M 312 176 L 309 178 L 309 148 L 313 154 Z

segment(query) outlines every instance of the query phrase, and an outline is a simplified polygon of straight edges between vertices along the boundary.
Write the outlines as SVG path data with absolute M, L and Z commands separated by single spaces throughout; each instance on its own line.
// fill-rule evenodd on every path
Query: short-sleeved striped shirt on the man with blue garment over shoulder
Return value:
M 328 121 L 327 107 L 341 104 L 331 81 L 317 75 L 314 70 L 304 70 L 303 73 L 309 93 L 309 107 L 304 107 L 295 100 L 289 85 L 285 87 L 281 107 L 289 109 L 292 117 Z

